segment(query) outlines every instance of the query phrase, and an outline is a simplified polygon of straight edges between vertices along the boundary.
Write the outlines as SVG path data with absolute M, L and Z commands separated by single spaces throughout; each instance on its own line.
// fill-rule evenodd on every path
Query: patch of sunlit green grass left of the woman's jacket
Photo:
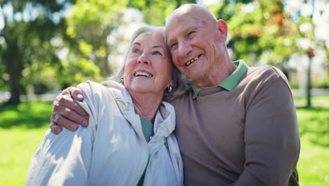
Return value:
M 0 107 L 0 185 L 25 185 L 27 168 L 50 116 L 51 102 Z

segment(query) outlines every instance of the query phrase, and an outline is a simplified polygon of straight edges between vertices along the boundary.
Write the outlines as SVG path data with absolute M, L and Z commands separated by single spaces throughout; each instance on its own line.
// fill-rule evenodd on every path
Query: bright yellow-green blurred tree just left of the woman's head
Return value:
M 112 72 L 108 65 L 112 49 L 107 44 L 107 37 L 122 23 L 127 4 L 127 0 L 77 0 L 72 6 L 71 16 L 66 19 L 68 37 L 65 42 L 70 49 L 69 58 L 65 61 L 67 66 L 98 68 L 102 77 Z M 82 64 L 78 64 L 79 61 Z

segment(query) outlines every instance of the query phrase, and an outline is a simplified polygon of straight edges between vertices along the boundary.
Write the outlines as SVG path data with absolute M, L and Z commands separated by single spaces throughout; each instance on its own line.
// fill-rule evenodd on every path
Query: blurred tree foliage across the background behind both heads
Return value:
M 18 104 L 27 85 L 43 93 L 56 87 L 77 85 L 86 79 L 100 81 L 113 71 L 111 55 L 122 54 L 129 30 L 125 13 L 134 9 L 143 22 L 164 25 L 182 4 L 197 0 L 0 0 L 0 89 L 11 91 L 9 103 Z M 314 30 L 300 32 L 311 18 L 293 19 L 285 1 L 222 0 L 208 8 L 228 23 L 228 47 L 233 60 L 250 65 L 272 64 L 288 75 L 287 62 L 298 37 L 314 39 Z M 70 7 L 70 8 L 68 8 Z M 70 13 L 65 13 L 70 9 Z M 64 17 L 66 15 L 66 17 Z M 27 16 L 27 18 L 26 18 Z M 130 20 L 133 24 L 136 19 Z M 314 26 L 314 25 L 312 25 Z M 136 29 L 136 27 L 134 27 Z M 131 29 L 131 30 L 134 30 Z M 111 40 L 112 35 L 116 39 Z M 328 49 L 325 42 L 316 46 Z M 327 60 L 328 61 L 328 60 Z M 4 86 L 6 83 L 8 86 Z

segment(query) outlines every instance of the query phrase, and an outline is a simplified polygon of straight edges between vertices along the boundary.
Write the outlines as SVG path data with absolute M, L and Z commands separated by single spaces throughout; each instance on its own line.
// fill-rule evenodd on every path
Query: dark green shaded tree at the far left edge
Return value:
M 23 77 L 34 74 L 31 70 L 40 70 L 41 63 L 58 62 L 56 47 L 50 39 L 65 27 L 61 11 L 74 2 L 0 1 L 0 70 L 11 92 L 6 104 L 20 103 L 20 94 L 27 83 Z

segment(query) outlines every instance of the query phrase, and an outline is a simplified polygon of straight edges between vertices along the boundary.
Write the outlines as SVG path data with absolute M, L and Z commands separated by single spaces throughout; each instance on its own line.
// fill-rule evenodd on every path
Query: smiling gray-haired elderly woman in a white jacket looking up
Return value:
M 173 99 L 186 89 L 172 68 L 164 28 L 134 33 L 115 81 L 78 85 L 88 128 L 46 132 L 27 185 L 182 185 L 183 163 L 172 133 Z

